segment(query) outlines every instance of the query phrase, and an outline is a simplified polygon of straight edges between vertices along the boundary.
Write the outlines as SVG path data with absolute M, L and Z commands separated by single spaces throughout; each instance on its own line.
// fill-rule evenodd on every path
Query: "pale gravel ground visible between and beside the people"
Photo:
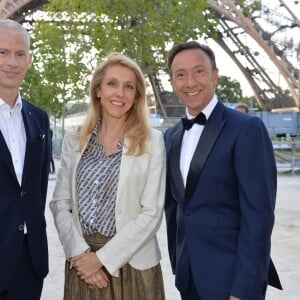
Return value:
M 55 176 L 50 175 L 48 203 L 52 197 Z M 64 253 L 58 240 L 49 207 L 46 208 L 50 271 L 45 279 L 42 300 L 62 300 Z M 158 232 L 162 251 L 162 270 L 167 300 L 179 300 L 174 287 L 168 253 L 165 222 Z M 269 287 L 267 300 L 300 299 L 300 176 L 278 173 L 276 222 L 272 236 L 272 258 L 277 266 L 284 291 Z

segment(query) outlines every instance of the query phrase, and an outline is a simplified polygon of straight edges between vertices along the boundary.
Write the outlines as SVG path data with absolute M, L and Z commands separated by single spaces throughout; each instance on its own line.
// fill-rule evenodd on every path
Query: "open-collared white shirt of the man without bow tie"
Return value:
M 0 131 L 9 149 L 20 185 L 22 183 L 26 149 L 26 132 L 21 111 L 22 101 L 20 94 L 18 94 L 17 101 L 13 107 L 10 107 L 0 98 Z M 24 233 L 26 232 L 25 226 Z

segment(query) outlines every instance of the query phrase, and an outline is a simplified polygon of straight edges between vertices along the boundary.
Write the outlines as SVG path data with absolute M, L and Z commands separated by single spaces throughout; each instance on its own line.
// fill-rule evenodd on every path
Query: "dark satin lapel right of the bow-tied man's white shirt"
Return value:
M 190 164 L 184 199 L 189 199 L 193 195 L 199 181 L 202 167 L 225 124 L 225 120 L 222 119 L 223 111 L 224 105 L 219 102 L 203 129 Z

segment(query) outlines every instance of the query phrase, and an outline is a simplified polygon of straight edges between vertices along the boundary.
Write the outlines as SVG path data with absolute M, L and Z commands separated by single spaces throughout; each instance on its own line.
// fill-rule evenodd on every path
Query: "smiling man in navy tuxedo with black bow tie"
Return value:
M 177 44 L 168 65 L 187 113 L 165 134 L 176 287 L 186 300 L 265 299 L 268 283 L 281 288 L 270 260 L 277 174 L 268 133 L 218 100 L 210 48 Z

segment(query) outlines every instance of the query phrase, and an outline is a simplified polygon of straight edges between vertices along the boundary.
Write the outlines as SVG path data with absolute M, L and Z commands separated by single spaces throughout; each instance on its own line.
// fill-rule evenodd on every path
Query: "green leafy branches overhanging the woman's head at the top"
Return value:
M 51 0 L 48 10 L 80 19 L 77 25 L 90 36 L 100 58 L 121 51 L 151 74 L 165 68 L 169 44 L 214 36 L 216 21 L 208 6 L 206 0 Z

